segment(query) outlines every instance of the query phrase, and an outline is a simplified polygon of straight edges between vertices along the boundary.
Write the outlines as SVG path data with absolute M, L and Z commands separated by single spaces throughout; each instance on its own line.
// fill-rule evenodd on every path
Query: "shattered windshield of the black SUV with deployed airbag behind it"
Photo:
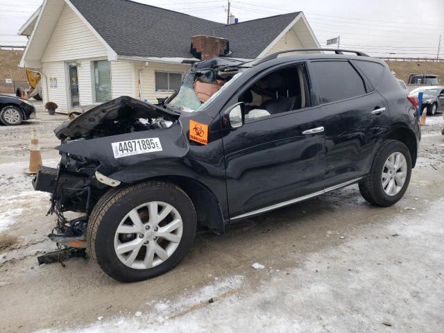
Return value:
M 188 71 L 178 94 L 167 105 L 180 112 L 198 112 L 214 101 L 241 74 L 235 71 L 221 76 L 215 70 Z

